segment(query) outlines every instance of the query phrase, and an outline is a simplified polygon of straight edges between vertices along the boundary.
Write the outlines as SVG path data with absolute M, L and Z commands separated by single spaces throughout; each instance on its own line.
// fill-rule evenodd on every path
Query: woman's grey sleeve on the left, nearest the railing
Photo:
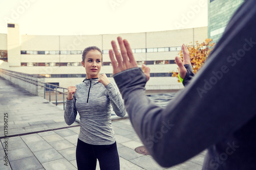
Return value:
M 75 94 L 73 95 L 72 100 L 66 100 L 66 107 L 64 112 L 64 118 L 67 125 L 72 125 L 76 120 L 76 98 Z

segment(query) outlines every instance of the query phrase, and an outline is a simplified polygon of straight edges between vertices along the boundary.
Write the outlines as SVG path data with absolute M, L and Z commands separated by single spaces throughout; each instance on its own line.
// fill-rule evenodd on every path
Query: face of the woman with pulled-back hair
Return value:
M 101 69 L 101 53 L 98 50 L 91 50 L 87 53 L 83 67 L 86 68 L 87 79 L 98 78 Z

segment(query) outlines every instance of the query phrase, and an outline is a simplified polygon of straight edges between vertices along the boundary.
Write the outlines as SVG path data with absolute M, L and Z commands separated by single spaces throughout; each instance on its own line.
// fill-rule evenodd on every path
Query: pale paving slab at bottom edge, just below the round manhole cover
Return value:
M 132 159 L 130 161 L 147 170 L 165 169 L 165 167 L 160 166 L 154 159 L 146 155 Z

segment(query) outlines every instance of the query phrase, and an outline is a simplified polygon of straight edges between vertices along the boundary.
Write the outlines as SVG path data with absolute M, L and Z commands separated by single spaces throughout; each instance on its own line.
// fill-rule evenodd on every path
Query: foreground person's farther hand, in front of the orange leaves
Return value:
M 182 44 L 181 50 L 182 50 L 182 53 L 183 53 L 183 63 L 182 63 L 180 57 L 178 57 L 178 56 L 175 58 L 175 62 L 179 66 L 180 77 L 182 79 L 184 79 L 185 76 L 186 76 L 186 73 L 187 73 L 187 69 L 184 67 L 184 65 L 185 64 L 191 64 L 191 62 L 190 62 L 188 49 L 184 44 Z

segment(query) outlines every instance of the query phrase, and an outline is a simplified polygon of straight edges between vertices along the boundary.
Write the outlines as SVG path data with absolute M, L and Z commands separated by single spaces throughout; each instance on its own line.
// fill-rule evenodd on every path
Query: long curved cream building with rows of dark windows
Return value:
M 175 57 L 181 45 L 193 45 L 207 38 L 207 27 L 105 35 L 20 35 L 17 24 L 8 24 L 8 33 L 0 34 L 0 51 L 4 54 L 0 68 L 46 77 L 47 83 L 68 87 L 82 82 L 86 71 L 81 65 L 85 47 L 98 46 L 103 52 L 101 73 L 113 80 L 109 58 L 111 40 L 118 36 L 127 39 L 138 65 L 151 68 L 146 89 L 180 89 L 177 78 L 170 73 L 177 70 Z

